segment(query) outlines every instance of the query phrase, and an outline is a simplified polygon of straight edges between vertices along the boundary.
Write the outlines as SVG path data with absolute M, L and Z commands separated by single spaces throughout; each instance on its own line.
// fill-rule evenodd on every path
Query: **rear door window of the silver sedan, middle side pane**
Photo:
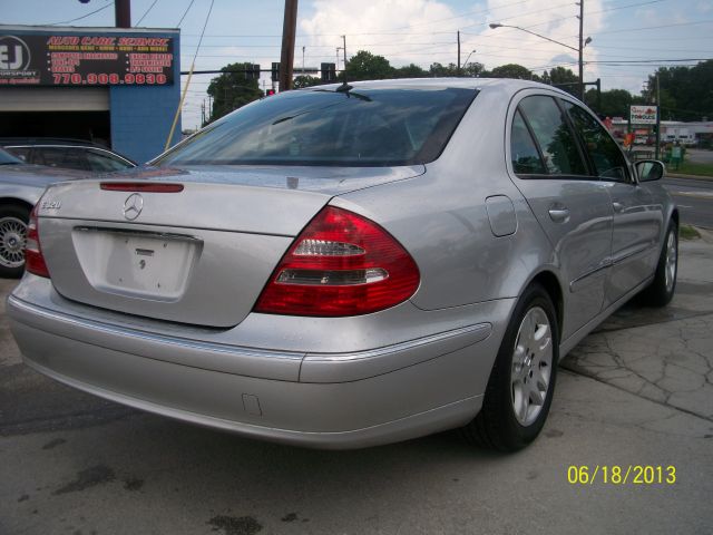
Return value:
M 527 118 L 550 175 L 588 175 L 576 138 L 551 97 L 524 98 L 518 109 Z

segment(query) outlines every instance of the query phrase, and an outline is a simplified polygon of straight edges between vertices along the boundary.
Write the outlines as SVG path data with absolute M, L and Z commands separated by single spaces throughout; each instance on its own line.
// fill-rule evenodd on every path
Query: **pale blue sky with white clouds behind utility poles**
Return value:
M 692 66 L 713 58 L 713 0 L 582 0 L 585 81 L 602 89 L 638 94 L 660 66 Z M 0 0 L 1 23 L 114 26 L 111 0 Z M 211 6 L 213 8 L 211 9 Z M 94 13 L 92 13 L 94 12 Z M 487 69 L 520 64 L 541 74 L 556 66 L 577 72 L 579 4 L 576 0 L 300 0 L 295 67 L 336 61 L 346 36 L 348 57 L 359 50 L 384 56 L 392 66 L 457 62 Z M 131 0 L 131 25 L 180 28 L 180 66 L 219 69 L 251 61 L 268 69 L 280 61 L 284 0 Z M 207 20 L 207 25 L 206 25 Z M 489 23 L 517 26 L 490 29 Z M 205 36 L 198 50 L 201 31 Z M 197 56 L 196 56 L 197 52 Z M 343 67 L 340 56 L 339 68 Z M 183 77 L 182 90 L 187 77 Z M 194 76 L 183 108 L 183 127 L 201 124 L 212 75 Z M 261 84 L 270 87 L 270 75 Z

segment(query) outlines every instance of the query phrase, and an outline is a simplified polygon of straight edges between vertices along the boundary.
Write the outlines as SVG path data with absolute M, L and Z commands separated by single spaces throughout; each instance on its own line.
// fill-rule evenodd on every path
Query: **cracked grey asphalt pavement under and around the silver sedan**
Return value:
M 705 231 L 670 307 L 626 305 L 561 362 L 515 455 L 457 432 L 307 450 L 126 409 L 25 367 L 1 314 L 0 534 L 707 534 L 712 370 Z

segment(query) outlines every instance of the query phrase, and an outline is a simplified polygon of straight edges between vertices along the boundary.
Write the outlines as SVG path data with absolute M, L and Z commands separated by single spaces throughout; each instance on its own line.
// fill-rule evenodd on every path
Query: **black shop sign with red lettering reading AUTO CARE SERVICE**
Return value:
M 172 37 L 97 31 L 6 33 L 0 29 L 0 87 L 173 82 Z

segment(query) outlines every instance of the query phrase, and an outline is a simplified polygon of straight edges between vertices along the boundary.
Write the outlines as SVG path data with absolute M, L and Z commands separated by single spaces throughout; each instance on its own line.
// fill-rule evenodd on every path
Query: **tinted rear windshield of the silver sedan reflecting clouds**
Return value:
M 475 89 L 290 91 L 215 121 L 154 165 L 392 166 L 432 162 Z

